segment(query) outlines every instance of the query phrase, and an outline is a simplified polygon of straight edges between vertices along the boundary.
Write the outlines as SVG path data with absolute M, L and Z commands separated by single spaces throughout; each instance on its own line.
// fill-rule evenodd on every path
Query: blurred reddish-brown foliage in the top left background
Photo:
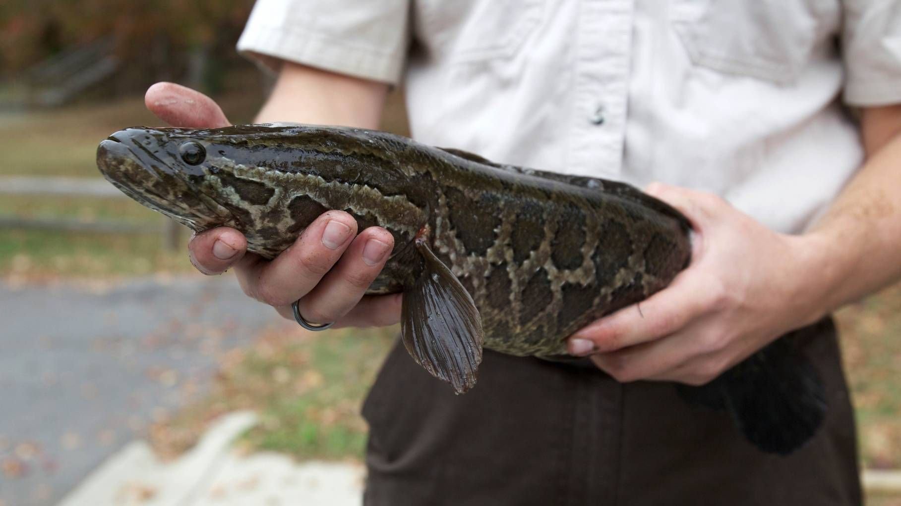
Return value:
M 132 74 L 184 75 L 197 55 L 205 62 L 233 52 L 252 5 L 252 0 L 4 0 L 0 73 L 8 77 L 62 51 L 112 36 L 114 54 L 128 63 Z M 220 51 L 225 48 L 229 50 Z M 198 84 L 212 86 L 216 79 L 209 74 L 200 72 L 203 82 Z M 129 80 L 127 75 L 120 78 Z

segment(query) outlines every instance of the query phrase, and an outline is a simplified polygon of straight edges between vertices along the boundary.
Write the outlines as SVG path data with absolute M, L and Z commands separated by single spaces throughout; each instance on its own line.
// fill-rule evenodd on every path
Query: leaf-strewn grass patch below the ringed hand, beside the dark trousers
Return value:
M 367 427 L 360 403 L 396 331 L 268 330 L 224 357 L 213 393 L 156 424 L 151 442 L 160 455 L 176 456 L 196 442 L 208 420 L 253 409 L 262 420 L 244 438 L 249 449 L 299 459 L 361 458 Z

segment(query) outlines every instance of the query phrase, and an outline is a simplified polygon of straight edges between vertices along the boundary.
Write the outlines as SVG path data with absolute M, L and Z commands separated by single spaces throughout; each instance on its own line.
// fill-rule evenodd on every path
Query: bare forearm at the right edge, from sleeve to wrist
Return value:
M 865 112 L 867 159 L 805 235 L 809 294 L 831 312 L 901 278 L 901 107 Z

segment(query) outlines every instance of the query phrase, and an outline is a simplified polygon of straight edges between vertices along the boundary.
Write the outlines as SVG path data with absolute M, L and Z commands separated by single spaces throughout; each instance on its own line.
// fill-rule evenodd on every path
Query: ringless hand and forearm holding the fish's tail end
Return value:
M 620 381 L 704 384 L 789 330 L 901 278 L 901 104 L 864 108 L 866 159 L 800 236 L 773 232 L 711 194 L 652 185 L 696 231 L 691 265 L 647 301 L 579 330 Z M 642 316 L 643 315 L 643 316 Z

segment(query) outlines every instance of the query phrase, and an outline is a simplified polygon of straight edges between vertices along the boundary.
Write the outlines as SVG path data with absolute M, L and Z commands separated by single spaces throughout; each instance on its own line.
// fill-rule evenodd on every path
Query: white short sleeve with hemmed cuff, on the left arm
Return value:
M 397 84 L 410 0 L 257 0 L 238 50 L 277 72 L 282 60 Z

